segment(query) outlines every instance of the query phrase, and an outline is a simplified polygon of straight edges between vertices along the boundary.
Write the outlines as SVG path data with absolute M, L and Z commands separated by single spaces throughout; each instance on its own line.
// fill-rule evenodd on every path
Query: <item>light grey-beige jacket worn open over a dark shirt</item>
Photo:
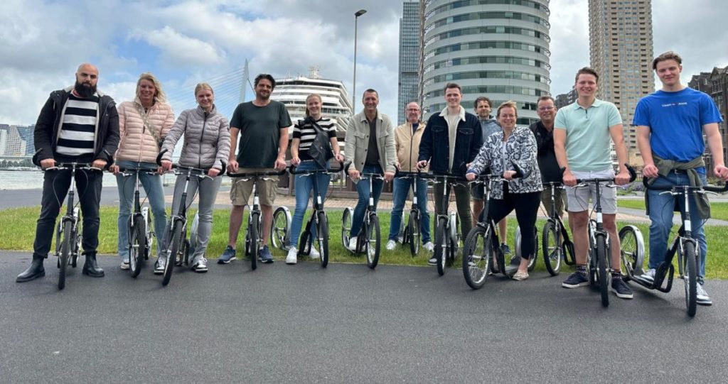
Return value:
M 344 146 L 344 154 L 347 159 L 352 160 L 351 167 L 362 172 L 366 161 L 366 151 L 369 146 L 369 121 L 364 111 L 357 113 L 349 120 L 347 137 Z M 395 128 L 387 115 L 376 112 L 376 146 L 379 151 L 379 165 L 384 172 L 396 172 L 395 162 L 397 152 L 395 151 Z

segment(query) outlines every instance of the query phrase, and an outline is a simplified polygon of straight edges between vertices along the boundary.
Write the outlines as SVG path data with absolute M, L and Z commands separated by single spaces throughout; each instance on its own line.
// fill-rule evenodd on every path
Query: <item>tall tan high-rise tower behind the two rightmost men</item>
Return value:
M 619 108 L 630 163 L 641 164 L 631 124 L 640 98 L 654 92 L 652 0 L 589 0 L 589 54 L 597 97 Z

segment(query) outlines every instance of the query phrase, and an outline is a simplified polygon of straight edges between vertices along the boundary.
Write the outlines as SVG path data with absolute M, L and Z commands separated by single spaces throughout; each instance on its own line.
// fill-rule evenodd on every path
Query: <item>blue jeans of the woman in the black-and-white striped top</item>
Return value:
M 315 161 L 301 161 L 296 167 L 300 171 L 310 171 L 312 169 L 321 169 Z M 309 195 L 314 190 L 314 180 L 318 184 L 318 190 L 321 195 L 321 204 L 326 199 L 328 184 L 331 182 L 331 176 L 325 173 L 317 175 L 296 175 L 294 182 L 296 188 L 296 211 L 293 212 L 293 221 L 290 223 L 290 246 L 298 247 L 298 236 L 301 236 L 301 227 L 304 225 L 304 215 L 306 208 L 309 206 Z M 314 199 L 316 196 L 314 195 Z M 316 225 L 311 225 L 311 239 L 316 237 Z

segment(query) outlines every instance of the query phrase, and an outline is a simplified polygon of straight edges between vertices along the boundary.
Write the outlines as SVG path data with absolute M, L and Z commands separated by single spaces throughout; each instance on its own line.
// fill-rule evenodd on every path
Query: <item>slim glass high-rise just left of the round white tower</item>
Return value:
M 405 122 L 405 107 L 419 100 L 419 0 L 404 0 L 400 18 L 400 79 L 397 124 Z

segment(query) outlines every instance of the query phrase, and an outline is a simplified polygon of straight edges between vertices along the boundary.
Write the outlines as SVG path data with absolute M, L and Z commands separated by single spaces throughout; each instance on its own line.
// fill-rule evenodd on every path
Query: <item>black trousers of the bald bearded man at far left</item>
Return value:
M 95 253 L 98 248 L 98 206 L 101 200 L 102 172 L 76 170 L 74 205 L 80 203 L 84 254 Z M 43 177 L 43 197 L 41 215 L 36 223 L 36 239 L 33 241 L 33 255 L 45 257 L 50 252 L 50 244 L 55 236 L 55 220 L 60 206 L 66 204 L 68 187 L 71 186 L 71 170 L 45 172 Z M 65 211 L 63 212 L 66 213 Z

